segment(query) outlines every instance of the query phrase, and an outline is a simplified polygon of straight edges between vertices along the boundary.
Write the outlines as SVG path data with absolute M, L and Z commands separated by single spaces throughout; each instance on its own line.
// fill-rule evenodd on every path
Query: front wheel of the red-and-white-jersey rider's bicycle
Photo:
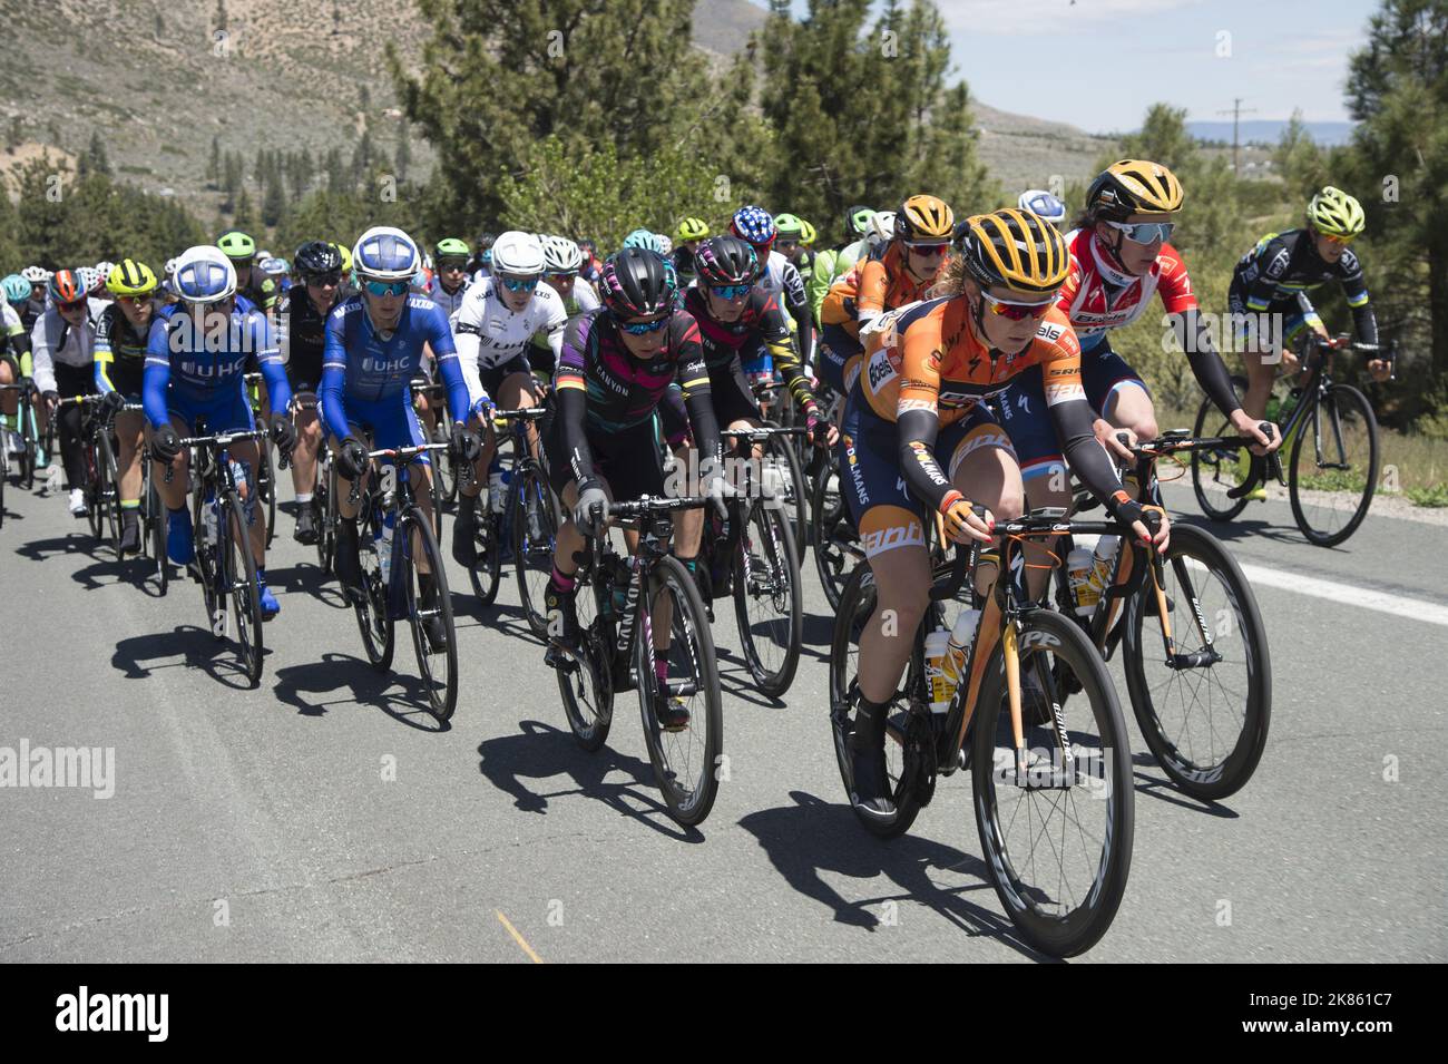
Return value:
M 1195 559 L 1206 567 L 1211 576 L 1215 576 L 1221 582 L 1228 596 L 1228 607 L 1235 607 L 1231 631 L 1239 633 L 1248 666 L 1247 702 L 1242 706 L 1241 722 L 1235 725 L 1237 740 L 1232 741 L 1226 756 L 1203 763 L 1199 760 L 1200 754 L 1196 750 L 1190 753 L 1184 750 L 1183 740 L 1187 740 L 1186 746 L 1195 747 L 1195 737 L 1171 734 L 1176 730 L 1167 727 L 1166 721 L 1163 721 L 1163 712 L 1157 706 L 1158 699 L 1153 698 L 1153 685 L 1147 675 L 1148 640 L 1151 641 L 1151 653 L 1160 654 L 1163 651 L 1156 643 L 1160 621 L 1153 621 L 1151 628 L 1147 627 L 1147 621 L 1151 618 L 1145 615 L 1147 604 L 1144 596 L 1154 594 L 1150 579 L 1142 585 L 1141 594 L 1134 595 L 1127 602 L 1127 614 L 1122 621 L 1127 625 L 1122 640 L 1122 666 L 1127 673 L 1127 689 L 1131 693 L 1131 708 L 1137 717 L 1137 725 L 1141 728 L 1142 738 L 1147 740 L 1151 756 L 1157 759 L 1157 764 L 1161 766 L 1161 770 L 1183 792 L 1202 801 L 1215 802 L 1237 793 L 1247 785 L 1257 770 L 1258 761 L 1261 761 L 1263 750 L 1267 747 L 1267 731 L 1271 725 L 1271 656 L 1267 647 L 1267 628 L 1263 624 L 1257 598 L 1253 595 L 1251 583 L 1247 582 L 1247 576 L 1242 573 L 1237 559 L 1209 531 L 1186 524 L 1177 524 L 1171 528 L 1171 541 L 1166 553 L 1166 563 L 1171 567 L 1171 575 L 1164 580 L 1167 588 L 1163 591 L 1169 592 L 1169 599 L 1174 599 L 1182 605 L 1182 617 L 1173 618 L 1173 636 L 1180 637 L 1183 633 L 1190 631 L 1190 627 L 1195 624 L 1195 615 L 1205 614 L 1203 620 L 1212 618 L 1213 622 L 1221 624 L 1216 620 L 1221 617 L 1221 609 L 1202 609 L 1200 607 L 1200 580 L 1192 585 L 1199 592 L 1195 596 L 1184 595 L 1183 589 L 1177 589 L 1174 596 L 1170 595 L 1173 578 L 1177 582 L 1177 588 L 1184 588 L 1189 579 L 1184 559 Z M 1226 638 L 1226 634 L 1219 633 L 1215 647 L 1222 647 L 1224 638 Z M 1182 638 L 1177 638 L 1177 646 L 1182 646 Z M 1160 664 L 1166 667 L 1164 662 Z M 1197 676 L 1202 675 L 1196 669 L 1192 672 Z M 1208 676 L 1211 676 L 1211 667 L 1208 669 Z M 1222 701 L 1228 701 L 1229 692 L 1221 685 L 1218 685 L 1218 689 L 1222 691 Z M 1206 731 L 1212 738 L 1225 735 L 1228 727 L 1218 727 L 1213 708 L 1215 701 L 1206 706 L 1209 718 Z M 1176 714 L 1173 714 L 1174 717 Z M 1192 722 L 1183 719 L 1183 728 Z

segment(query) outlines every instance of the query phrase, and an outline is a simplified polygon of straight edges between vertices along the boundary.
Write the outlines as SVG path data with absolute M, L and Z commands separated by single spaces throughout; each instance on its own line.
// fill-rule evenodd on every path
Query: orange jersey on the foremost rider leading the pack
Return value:
M 870 408 L 888 421 L 906 410 L 930 410 L 941 427 L 953 424 L 1035 365 L 1045 376 L 1047 405 L 1086 398 L 1080 343 L 1057 307 L 1041 318 L 1030 346 L 1009 358 L 990 358 L 972 334 L 970 305 L 959 295 L 889 311 L 870 323 L 862 339 L 866 365 L 860 388 Z

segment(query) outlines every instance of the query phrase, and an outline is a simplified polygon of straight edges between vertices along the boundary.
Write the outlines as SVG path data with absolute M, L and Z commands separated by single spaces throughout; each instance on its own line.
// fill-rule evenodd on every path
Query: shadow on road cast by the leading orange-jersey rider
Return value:
M 892 924 L 889 902 L 917 902 L 930 906 L 967 935 L 988 937 L 1027 957 L 1050 960 L 1014 937 L 1014 928 L 993 909 L 966 900 L 972 890 L 995 899 L 985 863 L 954 847 L 918 835 L 902 835 L 885 843 L 869 835 L 846 805 L 825 802 L 804 790 L 791 790 L 792 806 L 752 812 L 740 827 L 759 840 L 770 863 L 796 892 L 834 911 L 837 924 L 875 931 Z M 899 884 L 898 893 L 850 900 L 821 873 L 875 880 L 888 876 Z M 950 876 L 956 886 L 943 880 Z M 883 916 L 883 919 L 882 919 Z

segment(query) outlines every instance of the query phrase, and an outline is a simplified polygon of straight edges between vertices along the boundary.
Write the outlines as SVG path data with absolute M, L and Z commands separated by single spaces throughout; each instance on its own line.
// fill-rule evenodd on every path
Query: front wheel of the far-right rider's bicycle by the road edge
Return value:
M 1335 547 L 1363 524 L 1377 491 L 1377 418 L 1367 397 L 1332 385 L 1292 442 L 1292 515 L 1319 547 Z

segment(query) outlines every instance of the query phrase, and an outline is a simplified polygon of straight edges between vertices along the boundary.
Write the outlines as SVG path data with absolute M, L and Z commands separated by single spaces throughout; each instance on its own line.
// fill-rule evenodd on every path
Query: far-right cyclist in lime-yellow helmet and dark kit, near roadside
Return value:
M 1348 248 L 1367 224 L 1363 204 L 1341 188 L 1328 185 L 1312 197 L 1306 217 L 1305 229 L 1268 233 L 1258 240 L 1237 263 L 1226 290 L 1228 308 L 1239 334 L 1245 333 L 1247 395 L 1242 407 L 1253 420 L 1267 414 L 1277 362 L 1289 371 L 1297 366 L 1290 345 L 1302 330 L 1310 329 L 1323 340 L 1329 339 L 1326 326 L 1308 298 L 1310 288 L 1328 281 L 1341 284 L 1352 310 L 1358 342 L 1377 345 L 1377 316 L 1368 298 L 1363 263 Z M 1276 345 L 1267 339 L 1266 329 L 1253 327 L 1254 318 L 1266 316 L 1284 323 L 1280 353 L 1274 352 Z M 1374 381 L 1386 381 L 1393 372 L 1392 363 L 1381 356 L 1370 359 L 1367 366 Z M 1245 469 L 1242 472 L 1245 475 Z M 1248 498 L 1264 499 L 1267 492 L 1258 486 Z

